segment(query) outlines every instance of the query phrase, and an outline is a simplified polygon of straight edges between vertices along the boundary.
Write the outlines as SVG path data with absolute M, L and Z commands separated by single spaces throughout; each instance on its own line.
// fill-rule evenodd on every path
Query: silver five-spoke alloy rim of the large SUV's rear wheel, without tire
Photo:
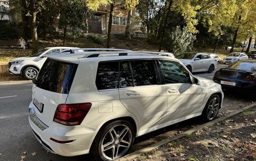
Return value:
M 103 137 L 101 153 L 106 160 L 115 160 L 125 155 L 131 142 L 130 128 L 126 125 L 116 125 Z

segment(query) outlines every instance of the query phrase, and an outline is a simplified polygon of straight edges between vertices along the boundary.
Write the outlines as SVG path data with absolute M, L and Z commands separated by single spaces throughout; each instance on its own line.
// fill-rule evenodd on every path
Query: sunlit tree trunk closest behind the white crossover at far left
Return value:
M 31 36 L 33 41 L 33 50 L 32 53 L 38 52 L 38 35 L 37 35 L 37 26 L 36 26 L 36 14 L 37 12 L 31 13 Z

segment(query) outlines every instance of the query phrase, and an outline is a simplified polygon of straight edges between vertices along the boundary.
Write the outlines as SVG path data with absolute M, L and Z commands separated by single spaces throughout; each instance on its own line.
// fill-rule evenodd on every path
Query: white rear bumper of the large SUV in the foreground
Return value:
M 29 111 L 35 108 L 33 103 L 29 105 Z M 29 114 L 30 115 L 30 114 Z M 90 146 L 94 140 L 94 136 L 98 130 L 85 126 L 63 126 L 53 122 L 51 126 L 38 125 L 29 116 L 29 124 L 34 132 L 36 139 L 47 151 L 66 157 L 88 154 Z M 40 124 L 40 122 L 39 122 Z M 59 141 L 74 140 L 66 144 L 60 144 L 50 140 L 50 138 Z

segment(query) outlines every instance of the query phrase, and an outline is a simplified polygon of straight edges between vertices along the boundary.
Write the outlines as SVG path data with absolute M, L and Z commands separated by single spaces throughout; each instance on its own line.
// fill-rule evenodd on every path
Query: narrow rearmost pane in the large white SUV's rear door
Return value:
M 119 88 L 126 88 L 127 86 L 133 86 L 130 65 L 129 62 L 121 62 Z

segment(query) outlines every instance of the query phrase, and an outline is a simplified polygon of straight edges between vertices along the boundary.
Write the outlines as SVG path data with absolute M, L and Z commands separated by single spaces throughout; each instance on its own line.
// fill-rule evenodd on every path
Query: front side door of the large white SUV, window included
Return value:
M 193 117 L 201 104 L 202 89 L 192 84 L 189 72 L 179 62 L 159 60 L 167 94 L 167 116 L 164 122 Z M 167 68 L 168 67 L 168 68 Z

